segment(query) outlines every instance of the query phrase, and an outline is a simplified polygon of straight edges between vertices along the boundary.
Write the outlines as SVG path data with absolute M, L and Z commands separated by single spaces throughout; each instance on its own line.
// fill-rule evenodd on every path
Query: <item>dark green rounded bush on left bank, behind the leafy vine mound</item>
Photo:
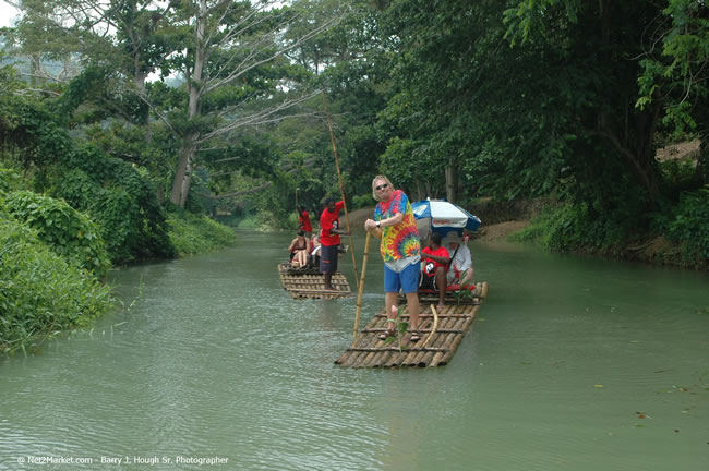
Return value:
M 67 167 L 71 170 L 56 194 L 100 225 L 113 263 L 175 255 L 163 207 L 133 166 L 84 146 L 72 153 Z

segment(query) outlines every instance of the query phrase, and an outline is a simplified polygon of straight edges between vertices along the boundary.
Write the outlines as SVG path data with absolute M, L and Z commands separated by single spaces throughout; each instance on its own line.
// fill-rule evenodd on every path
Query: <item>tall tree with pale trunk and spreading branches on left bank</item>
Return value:
M 140 97 L 179 140 L 170 201 L 180 207 L 189 195 L 197 153 L 223 146 L 242 126 L 279 119 L 278 113 L 312 95 L 300 92 L 297 82 L 289 80 L 293 68 L 283 57 L 338 21 L 337 16 L 329 17 L 295 38 L 285 38 L 297 12 L 277 9 L 280 2 L 269 0 L 167 4 L 112 0 L 106 5 L 86 0 L 33 2 L 36 4 L 28 4 L 33 9 L 28 11 L 37 14 L 26 15 L 28 24 L 38 21 L 38 12 L 52 11 L 51 24 L 59 31 L 89 37 L 93 46 L 110 49 L 110 55 L 106 55 L 107 49 L 97 55 L 100 49 L 95 47 L 79 48 L 76 53 L 84 63 L 108 65 L 106 75 L 116 81 L 107 95 L 119 102 L 124 101 L 125 94 Z M 67 17 L 71 20 L 62 21 Z M 27 29 L 25 46 L 31 44 L 31 36 L 35 37 Z M 117 60 L 109 62 L 109 57 Z M 173 73 L 181 77 L 184 104 L 160 109 L 166 101 L 156 102 L 146 86 L 146 77 L 157 71 L 163 77 Z M 81 89 L 85 97 L 91 87 Z M 113 90 L 118 93 L 110 93 Z M 271 101 L 267 107 L 254 107 L 256 100 Z M 133 109 L 120 116 L 137 123 L 142 117 L 144 122 L 145 110 L 140 112 L 141 106 L 134 102 L 128 105 Z

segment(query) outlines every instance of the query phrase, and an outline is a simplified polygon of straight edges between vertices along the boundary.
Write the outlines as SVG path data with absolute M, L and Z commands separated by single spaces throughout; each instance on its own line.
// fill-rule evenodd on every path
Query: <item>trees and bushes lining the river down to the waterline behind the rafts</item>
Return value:
M 292 227 L 339 194 L 333 146 L 351 209 L 376 173 L 473 212 L 541 197 L 557 205 L 524 237 L 551 250 L 708 266 L 705 2 L 20 7 L 0 31 L 4 227 L 93 279 L 228 242 L 204 216 Z M 699 144 L 658 157 L 681 142 Z

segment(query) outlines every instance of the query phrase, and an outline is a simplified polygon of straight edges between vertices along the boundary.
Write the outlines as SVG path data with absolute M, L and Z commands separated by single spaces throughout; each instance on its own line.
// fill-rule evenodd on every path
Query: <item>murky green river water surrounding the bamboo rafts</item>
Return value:
M 113 271 L 123 309 L 1 360 L 0 469 L 709 470 L 707 274 L 471 242 L 490 291 L 452 362 L 350 370 L 356 298 L 291 300 L 291 234 L 237 237 Z M 382 271 L 373 245 L 361 326 Z

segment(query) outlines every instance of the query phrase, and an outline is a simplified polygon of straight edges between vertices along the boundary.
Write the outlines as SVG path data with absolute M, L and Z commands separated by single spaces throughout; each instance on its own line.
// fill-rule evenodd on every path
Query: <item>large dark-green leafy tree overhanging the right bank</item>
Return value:
M 638 191 L 652 207 L 662 105 L 635 104 L 659 12 L 653 1 L 394 1 L 408 105 L 389 113 L 395 132 L 448 169 L 448 189 L 458 169 L 507 197 L 561 191 L 608 206 Z M 618 172 L 629 185 L 610 197 L 602 182 Z

